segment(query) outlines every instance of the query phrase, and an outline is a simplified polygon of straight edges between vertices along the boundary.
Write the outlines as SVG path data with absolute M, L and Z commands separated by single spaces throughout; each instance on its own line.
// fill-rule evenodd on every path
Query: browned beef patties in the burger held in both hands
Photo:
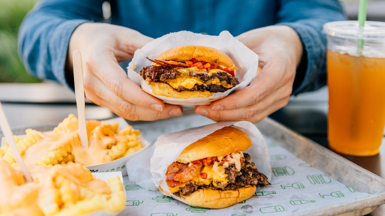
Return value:
M 182 73 L 177 70 L 178 68 L 171 67 L 160 67 L 160 66 L 148 66 L 142 68 L 140 75 L 149 83 L 151 82 L 163 82 L 167 83 L 166 80 L 175 79 L 178 76 L 181 76 Z M 216 72 L 212 73 L 211 76 L 208 73 L 198 72 L 198 71 L 189 71 L 189 75 L 192 77 L 199 78 L 203 83 L 209 83 L 210 80 L 218 78 L 219 81 L 226 81 L 228 84 L 231 84 L 232 87 L 239 84 L 239 81 L 236 77 L 232 76 L 227 72 Z M 195 84 L 191 89 L 185 88 L 183 86 L 178 86 L 174 88 L 177 91 L 209 91 L 209 92 L 225 92 L 230 88 L 226 88 L 222 85 L 217 84 Z

